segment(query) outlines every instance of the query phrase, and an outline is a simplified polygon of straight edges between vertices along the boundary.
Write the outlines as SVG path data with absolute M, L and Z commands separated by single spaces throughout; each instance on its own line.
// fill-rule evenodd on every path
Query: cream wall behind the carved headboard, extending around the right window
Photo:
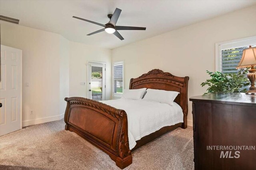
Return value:
M 200 84 L 215 71 L 215 43 L 256 35 L 256 6 L 182 27 L 112 50 L 112 62 L 125 62 L 125 88 L 130 78 L 159 68 L 176 76 L 189 76 L 188 97 L 202 95 Z M 192 103 L 188 102 L 192 125 Z

